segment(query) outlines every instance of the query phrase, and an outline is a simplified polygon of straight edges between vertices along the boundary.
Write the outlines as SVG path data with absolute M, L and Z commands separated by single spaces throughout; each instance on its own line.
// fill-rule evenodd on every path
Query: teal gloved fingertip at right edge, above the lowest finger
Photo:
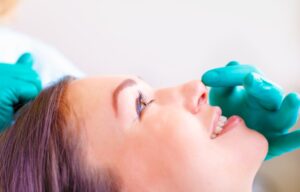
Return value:
M 273 126 L 278 130 L 282 130 L 284 127 L 285 130 L 291 128 L 298 119 L 300 108 L 300 97 L 297 93 L 288 94 L 280 106 L 280 109 L 275 112 L 272 118 Z

